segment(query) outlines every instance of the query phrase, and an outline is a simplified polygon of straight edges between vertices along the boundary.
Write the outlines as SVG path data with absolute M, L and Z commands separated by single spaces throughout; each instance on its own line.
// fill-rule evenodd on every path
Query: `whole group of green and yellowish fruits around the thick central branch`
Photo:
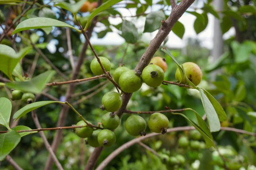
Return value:
M 105 71 L 111 70 L 111 62 L 105 57 L 99 57 Z M 113 73 L 113 79 L 125 93 L 133 93 L 138 91 L 143 82 L 150 87 L 160 86 L 164 79 L 164 73 L 167 70 L 165 59 L 154 57 L 151 59 L 150 65 L 146 66 L 142 73 L 140 71 L 130 70 L 120 64 Z M 188 69 L 187 69 L 188 68 Z M 93 74 L 104 74 L 101 65 L 97 58 L 94 58 L 90 64 L 90 69 Z M 202 79 L 201 69 L 195 63 L 184 63 L 184 69 L 189 75 L 190 81 L 198 85 Z M 177 69 L 176 79 L 187 84 L 186 79 L 182 79 L 180 71 Z M 106 113 L 102 116 L 101 125 L 103 130 L 93 131 L 93 127 L 87 126 L 83 121 L 77 123 L 77 126 L 84 127 L 76 128 L 76 134 L 81 138 L 87 138 L 87 143 L 92 147 L 110 147 L 116 142 L 116 136 L 113 130 L 119 126 L 120 119 L 114 112 L 122 106 L 122 96 L 117 92 L 108 92 L 102 97 L 102 111 L 106 110 L 111 113 Z M 125 122 L 126 131 L 132 136 L 145 136 L 147 123 L 145 119 L 138 115 L 129 116 Z M 162 113 L 153 113 L 148 119 L 148 127 L 155 133 L 166 133 L 166 128 L 169 126 L 169 119 Z

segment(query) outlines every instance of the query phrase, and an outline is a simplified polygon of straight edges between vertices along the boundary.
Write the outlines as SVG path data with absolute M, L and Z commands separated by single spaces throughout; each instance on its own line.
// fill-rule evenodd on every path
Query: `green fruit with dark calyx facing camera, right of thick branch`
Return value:
M 146 85 L 154 88 L 162 84 L 164 72 L 158 65 L 151 64 L 143 69 L 141 77 Z

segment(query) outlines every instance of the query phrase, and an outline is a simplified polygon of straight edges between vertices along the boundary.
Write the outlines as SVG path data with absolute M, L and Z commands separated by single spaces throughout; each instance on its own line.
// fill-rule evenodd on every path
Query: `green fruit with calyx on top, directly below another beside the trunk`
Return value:
M 119 117 L 114 113 L 106 113 L 102 116 L 101 120 L 102 126 L 105 129 L 114 130 L 120 124 Z

